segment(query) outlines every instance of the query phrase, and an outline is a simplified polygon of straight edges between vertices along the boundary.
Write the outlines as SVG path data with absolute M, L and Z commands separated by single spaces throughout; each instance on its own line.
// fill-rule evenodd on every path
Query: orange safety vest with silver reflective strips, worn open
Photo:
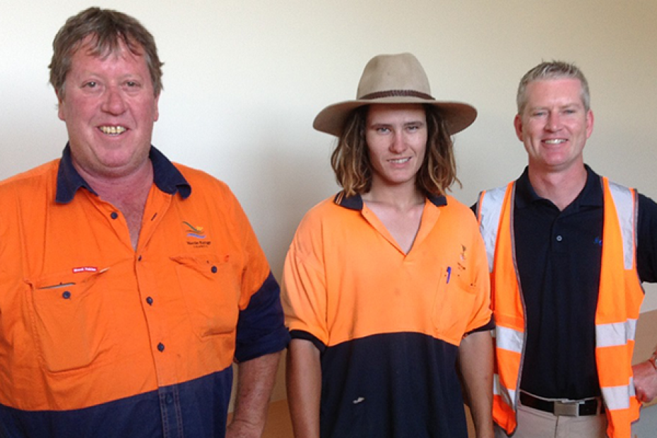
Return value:
M 637 273 L 637 193 L 602 177 L 603 249 L 596 309 L 596 365 L 610 438 L 630 438 L 639 419 L 632 351 L 644 290 Z M 525 349 L 525 305 L 514 246 L 515 182 L 483 191 L 478 221 L 488 256 L 495 316 L 493 418 L 507 434 L 516 430 Z M 499 293 L 498 293 L 499 291 Z M 506 292 L 506 293 L 504 293 Z

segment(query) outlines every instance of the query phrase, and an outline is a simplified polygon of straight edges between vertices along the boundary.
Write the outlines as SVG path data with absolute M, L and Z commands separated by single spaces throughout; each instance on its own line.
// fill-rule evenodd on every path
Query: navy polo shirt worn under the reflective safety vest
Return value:
M 526 351 L 520 387 L 546 398 L 600 395 L 596 306 L 603 235 L 598 174 L 563 211 L 538 196 L 525 169 L 516 184 L 516 262 L 526 305 Z M 637 267 L 657 281 L 657 204 L 639 195 Z

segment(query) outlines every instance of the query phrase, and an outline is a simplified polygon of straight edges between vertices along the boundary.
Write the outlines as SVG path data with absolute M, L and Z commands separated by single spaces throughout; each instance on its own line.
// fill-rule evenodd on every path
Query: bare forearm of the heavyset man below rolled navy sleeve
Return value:
M 261 437 L 279 359 L 280 353 L 272 353 L 237 365 L 235 412 L 227 437 Z

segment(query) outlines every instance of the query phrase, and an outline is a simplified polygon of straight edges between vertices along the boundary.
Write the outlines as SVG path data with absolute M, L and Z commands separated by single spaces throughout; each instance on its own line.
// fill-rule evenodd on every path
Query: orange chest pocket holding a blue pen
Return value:
M 472 318 L 476 289 L 459 268 L 443 267 L 441 272 L 432 312 L 434 329 L 439 338 L 458 345 Z

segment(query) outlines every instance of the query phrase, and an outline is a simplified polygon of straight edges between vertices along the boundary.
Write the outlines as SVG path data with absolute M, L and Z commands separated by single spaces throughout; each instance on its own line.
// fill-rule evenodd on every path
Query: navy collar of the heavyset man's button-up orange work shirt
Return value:
M 150 162 L 153 164 L 153 182 L 158 189 L 172 195 L 179 193 L 182 199 L 186 199 L 191 194 L 191 186 L 187 182 L 187 179 L 154 146 L 150 146 L 148 158 L 150 158 Z M 73 201 L 76 192 L 82 187 L 97 195 L 88 182 L 73 167 L 71 146 L 66 143 L 66 148 L 64 148 L 64 152 L 61 154 L 59 169 L 57 170 L 57 194 L 55 201 L 57 203 L 69 203 Z

